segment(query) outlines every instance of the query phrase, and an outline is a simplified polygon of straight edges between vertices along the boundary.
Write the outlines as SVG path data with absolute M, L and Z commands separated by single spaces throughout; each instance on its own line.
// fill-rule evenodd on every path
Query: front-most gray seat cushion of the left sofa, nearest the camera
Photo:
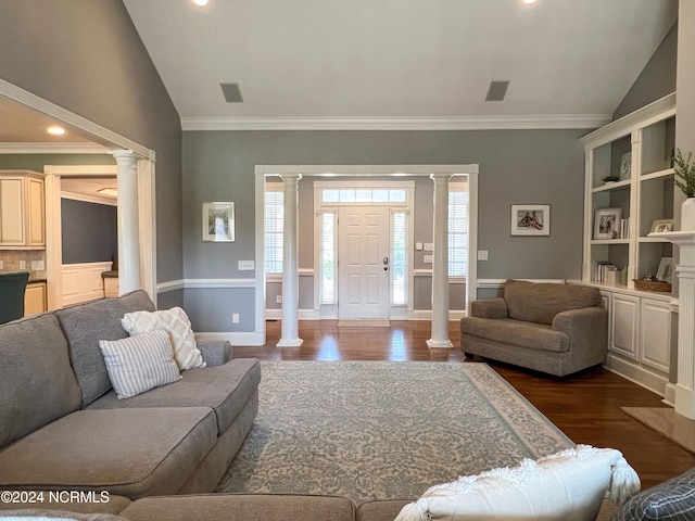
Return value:
M 0 452 L 0 488 L 176 494 L 216 440 L 206 407 L 79 410 Z

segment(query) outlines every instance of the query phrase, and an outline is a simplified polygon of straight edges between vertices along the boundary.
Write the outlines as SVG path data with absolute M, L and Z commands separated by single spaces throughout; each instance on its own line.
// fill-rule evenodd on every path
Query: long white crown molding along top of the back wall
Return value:
M 531 130 L 594 129 L 610 114 L 462 117 L 182 117 L 184 130 Z

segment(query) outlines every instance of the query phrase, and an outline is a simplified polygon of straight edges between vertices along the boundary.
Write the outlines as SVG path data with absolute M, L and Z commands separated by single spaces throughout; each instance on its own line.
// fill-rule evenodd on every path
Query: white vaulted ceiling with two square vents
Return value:
M 678 14 L 675 0 L 124 3 L 185 129 L 596 126 Z M 505 101 L 484 101 L 492 80 L 511 81 Z

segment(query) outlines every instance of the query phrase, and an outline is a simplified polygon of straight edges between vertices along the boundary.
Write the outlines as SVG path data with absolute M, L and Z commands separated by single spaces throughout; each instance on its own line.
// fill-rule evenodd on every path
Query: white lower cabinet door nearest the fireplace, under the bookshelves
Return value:
M 671 351 L 671 306 L 668 302 L 642 300 L 640 361 L 669 372 Z

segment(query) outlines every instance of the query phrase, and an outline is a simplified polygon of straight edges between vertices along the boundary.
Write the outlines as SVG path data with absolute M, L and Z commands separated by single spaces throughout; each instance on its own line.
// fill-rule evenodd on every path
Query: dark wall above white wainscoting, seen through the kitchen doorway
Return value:
M 63 264 L 101 263 L 118 252 L 116 207 L 61 199 Z

